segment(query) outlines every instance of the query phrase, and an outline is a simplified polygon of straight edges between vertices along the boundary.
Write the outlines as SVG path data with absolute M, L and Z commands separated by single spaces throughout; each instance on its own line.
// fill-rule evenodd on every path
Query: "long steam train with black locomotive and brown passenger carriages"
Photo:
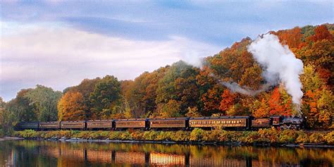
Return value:
M 254 118 L 253 116 L 218 116 L 188 118 L 132 118 L 113 120 L 78 120 L 19 123 L 18 130 L 192 130 L 202 128 L 211 130 L 257 130 L 259 128 L 303 129 L 302 117 L 271 116 Z

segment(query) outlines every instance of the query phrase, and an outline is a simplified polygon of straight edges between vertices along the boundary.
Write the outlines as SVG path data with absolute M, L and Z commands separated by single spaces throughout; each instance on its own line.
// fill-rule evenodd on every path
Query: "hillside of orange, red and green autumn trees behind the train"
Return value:
M 334 128 L 334 25 L 271 33 L 304 63 L 301 111 L 307 116 L 307 128 Z M 0 98 L 0 132 L 10 134 L 22 121 L 293 115 L 295 106 L 282 84 L 254 97 L 221 85 L 220 81 L 233 81 L 255 90 L 264 84 L 261 66 L 247 51 L 251 42 L 247 37 L 204 58 L 202 68 L 178 61 L 135 80 L 106 75 L 82 80 L 63 92 L 42 85 L 21 89 L 11 101 Z

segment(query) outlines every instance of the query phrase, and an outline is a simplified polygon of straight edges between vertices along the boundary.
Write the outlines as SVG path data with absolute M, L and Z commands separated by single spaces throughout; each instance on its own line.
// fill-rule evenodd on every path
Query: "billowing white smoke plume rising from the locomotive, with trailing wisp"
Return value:
M 240 87 L 235 82 L 222 82 L 222 84 L 233 92 L 254 96 L 282 82 L 287 93 L 292 97 L 292 103 L 299 111 L 303 96 L 302 83 L 299 80 L 299 75 L 303 73 L 302 61 L 295 57 L 287 45 L 280 44 L 276 35 L 271 34 L 258 37 L 252 44 L 249 44 L 247 51 L 252 53 L 257 63 L 261 64 L 262 75 L 267 84 L 262 85 L 259 90 Z

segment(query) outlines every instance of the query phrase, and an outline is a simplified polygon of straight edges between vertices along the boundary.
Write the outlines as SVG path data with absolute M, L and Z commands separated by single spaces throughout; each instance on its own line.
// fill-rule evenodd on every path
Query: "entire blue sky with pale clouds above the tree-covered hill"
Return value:
M 333 1 L 0 1 L 0 96 L 200 66 L 242 38 L 334 23 Z

